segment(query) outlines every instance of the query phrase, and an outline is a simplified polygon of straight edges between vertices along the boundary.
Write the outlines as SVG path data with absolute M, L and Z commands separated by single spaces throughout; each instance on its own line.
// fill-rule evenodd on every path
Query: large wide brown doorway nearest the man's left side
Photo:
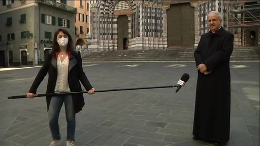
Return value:
M 172 4 L 167 10 L 169 48 L 193 48 L 195 43 L 194 8 L 190 3 Z

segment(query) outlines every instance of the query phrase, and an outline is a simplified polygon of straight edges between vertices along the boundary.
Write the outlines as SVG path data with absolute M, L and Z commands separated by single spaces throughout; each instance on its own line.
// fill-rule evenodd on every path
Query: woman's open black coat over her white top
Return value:
M 90 90 L 92 88 L 89 83 L 83 68 L 82 68 L 82 58 L 80 52 L 74 50 L 70 53 L 70 61 L 68 67 L 68 82 L 71 92 L 82 91 L 80 82 L 85 87 L 86 90 Z M 56 81 L 57 81 L 57 59 L 54 55 L 50 54 L 48 59 L 44 62 L 42 68 L 39 70 L 37 77 L 35 78 L 34 83 L 32 83 L 29 92 L 36 94 L 37 88 L 43 81 L 44 77 L 49 75 L 47 91 L 46 93 L 54 93 Z M 80 81 L 80 82 L 79 82 Z M 51 96 L 46 97 L 47 102 L 47 111 L 49 110 L 49 105 L 51 101 Z M 81 94 L 72 94 L 73 105 L 75 109 L 75 113 L 78 113 L 82 110 L 84 106 L 84 97 L 83 93 Z

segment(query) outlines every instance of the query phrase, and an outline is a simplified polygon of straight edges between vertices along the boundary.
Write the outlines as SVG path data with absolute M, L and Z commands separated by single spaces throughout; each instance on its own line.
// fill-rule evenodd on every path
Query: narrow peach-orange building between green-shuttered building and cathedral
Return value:
M 90 32 L 90 3 L 89 1 L 77 0 L 74 1 L 78 13 L 75 15 L 75 38 L 76 46 L 86 46 L 86 36 Z

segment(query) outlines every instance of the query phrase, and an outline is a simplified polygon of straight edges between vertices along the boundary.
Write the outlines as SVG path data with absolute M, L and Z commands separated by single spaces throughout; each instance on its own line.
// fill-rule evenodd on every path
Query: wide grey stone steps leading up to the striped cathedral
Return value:
M 194 49 L 116 50 L 101 56 L 92 52 L 83 61 L 194 61 Z M 259 60 L 259 53 L 252 48 L 235 48 L 231 60 Z

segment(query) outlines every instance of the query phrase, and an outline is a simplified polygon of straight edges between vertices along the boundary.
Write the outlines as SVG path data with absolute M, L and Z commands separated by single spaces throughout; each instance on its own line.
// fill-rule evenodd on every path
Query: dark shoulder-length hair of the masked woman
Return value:
M 54 33 L 54 37 L 53 37 L 53 41 L 52 41 L 52 51 L 51 51 L 51 53 L 52 53 L 53 56 L 56 56 L 56 52 L 60 51 L 59 44 L 57 43 L 57 35 L 60 31 L 62 31 L 64 34 L 68 35 L 69 42 L 68 42 L 68 45 L 67 45 L 67 52 L 72 52 L 75 49 L 74 45 L 73 45 L 73 40 L 72 40 L 71 34 L 67 30 L 59 28 Z

